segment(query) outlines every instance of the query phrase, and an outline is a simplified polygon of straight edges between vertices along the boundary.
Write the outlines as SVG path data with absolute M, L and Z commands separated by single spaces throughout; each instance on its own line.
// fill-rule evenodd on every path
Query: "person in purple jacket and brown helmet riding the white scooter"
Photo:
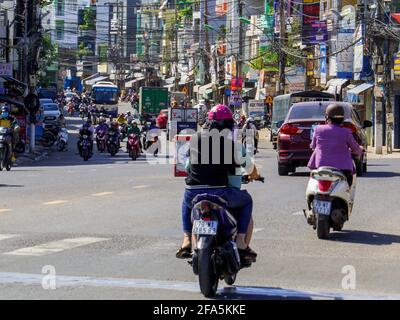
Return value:
M 347 177 L 351 186 L 355 172 L 353 154 L 360 157 L 361 147 L 354 139 L 350 129 L 342 127 L 344 108 L 339 104 L 330 104 L 325 112 L 326 124 L 318 125 L 314 130 L 311 149 L 314 150 L 308 167 L 312 170 L 319 167 L 334 167 L 340 169 Z

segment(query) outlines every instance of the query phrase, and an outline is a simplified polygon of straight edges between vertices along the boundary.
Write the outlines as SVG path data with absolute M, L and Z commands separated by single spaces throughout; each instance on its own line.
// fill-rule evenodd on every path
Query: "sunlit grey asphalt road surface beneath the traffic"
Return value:
M 70 119 L 71 129 L 79 123 Z M 259 259 L 236 287 L 221 282 L 217 298 L 400 298 L 399 160 L 370 161 L 351 220 L 326 241 L 300 213 L 307 170 L 279 177 L 267 141 L 256 160 L 266 182 L 247 188 Z M 184 181 L 172 172 L 123 152 L 84 163 L 74 140 L 68 152 L 1 172 L 0 299 L 202 299 L 175 258 Z M 56 290 L 42 286 L 45 266 Z M 355 290 L 342 288 L 345 266 Z

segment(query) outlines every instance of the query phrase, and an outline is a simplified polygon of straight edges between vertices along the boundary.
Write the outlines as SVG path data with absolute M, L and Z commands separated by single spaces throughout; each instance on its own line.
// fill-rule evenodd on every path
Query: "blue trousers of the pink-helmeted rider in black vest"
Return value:
M 251 213 L 253 211 L 253 199 L 246 190 L 226 187 L 220 189 L 186 189 L 182 202 L 182 224 L 183 232 L 192 232 L 192 200 L 202 193 L 213 194 L 222 197 L 228 202 L 229 209 L 238 210 L 239 216 L 236 217 L 238 222 L 238 233 L 246 233 L 249 227 Z

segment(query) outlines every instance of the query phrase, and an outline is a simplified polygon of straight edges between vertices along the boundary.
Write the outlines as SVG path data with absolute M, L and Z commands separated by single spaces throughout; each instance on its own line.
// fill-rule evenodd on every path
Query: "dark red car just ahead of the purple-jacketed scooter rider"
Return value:
M 332 101 L 313 101 L 295 103 L 283 121 L 278 123 L 278 173 L 287 176 L 296 172 L 297 167 L 305 167 L 310 160 L 312 150 L 311 138 L 315 126 L 325 123 L 325 110 Z M 342 105 L 345 110 L 344 126 L 351 129 L 354 138 L 367 150 L 365 128 L 371 127 L 371 121 L 361 123 L 357 111 L 350 103 L 334 102 Z M 367 154 L 360 160 L 355 160 L 357 175 L 362 176 L 367 171 Z

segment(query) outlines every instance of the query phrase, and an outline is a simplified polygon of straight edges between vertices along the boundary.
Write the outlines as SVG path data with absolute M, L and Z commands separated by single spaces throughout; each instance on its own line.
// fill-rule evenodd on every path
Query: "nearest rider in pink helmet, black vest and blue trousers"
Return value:
M 234 178 L 237 177 L 237 170 L 240 170 L 243 166 L 248 168 L 248 165 L 252 164 L 252 161 L 249 159 L 249 155 L 247 155 L 245 163 L 238 164 L 236 162 L 236 159 L 238 159 L 236 153 L 240 152 L 240 156 L 243 157 L 245 150 L 243 150 L 241 143 L 234 141 L 234 120 L 232 116 L 233 114 L 227 106 L 221 104 L 215 106 L 208 113 L 211 131 L 207 133 L 197 133 L 192 137 L 190 151 L 188 152 L 188 154 L 190 154 L 190 162 L 187 163 L 189 175 L 186 178 L 186 190 L 182 203 L 184 240 L 181 248 L 178 249 L 176 253 L 177 258 L 189 258 L 191 256 L 191 202 L 196 195 L 204 193 L 222 197 L 228 202 L 229 209 L 234 209 L 238 212 L 238 234 L 236 243 L 239 253 L 244 259 L 255 259 L 257 256 L 249 247 L 252 233 L 253 200 L 247 191 L 240 190 L 240 183 L 238 186 L 237 179 L 235 181 L 236 184 L 233 183 Z M 212 155 L 215 149 L 213 148 L 213 144 L 215 141 L 221 140 L 213 139 L 213 129 L 218 130 L 220 133 L 223 130 L 225 132 L 227 130 L 230 131 L 229 137 L 222 139 L 223 143 L 221 142 L 219 145 L 220 157 L 213 157 Z M 211 144 L 211 146 L 206 149 L 208 154 L 202 155 L 201 146 L 203 145 L 203 141 L 207 143 L 207 139 L 208 144 Z M 197 145 L 194 145 L 196 140 Z M 199 141 L 201 141 L 201 143 L 199 143 Z M 224 152 L 226 143 L 232 144 L 232 148 L 227 148 L 227 150 L 231 150 L 231 154 L 226 154 Z M 197 156 L 197 159 L 194 159 L 192 157 L 193 155 Z M 204 158 L 206 158 L 206 163 L 202 163 Z M 213 163 L 215 158 L 220 159 L 218 164 L 215 164 L 215 162 Z M 254 165 L 251 165 L 251 169 L 250 179 L 260 178 L 257 168 Z M 239 178 L 241 181 L 241 175 Z

